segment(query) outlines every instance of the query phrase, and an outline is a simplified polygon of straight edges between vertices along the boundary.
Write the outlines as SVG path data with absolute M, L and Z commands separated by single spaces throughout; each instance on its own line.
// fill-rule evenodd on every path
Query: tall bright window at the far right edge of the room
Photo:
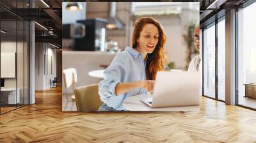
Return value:
M 256 84 L 256 3 L 247 6 L 237 12 L 238 26 L 238 47 L 237 47 L 237 84 L 238 104 L 256 109 L 256 100 L 250 84 Z M 246 86 L 248 87 L 246 90 Z M 250 89 L 249 89 L 250 87 Z M 246 91 L 248 93 L 246 93 Z M 253 92 L 255 93 L 253 93 Z M 250 94 L 249 94 L 250 93 Z

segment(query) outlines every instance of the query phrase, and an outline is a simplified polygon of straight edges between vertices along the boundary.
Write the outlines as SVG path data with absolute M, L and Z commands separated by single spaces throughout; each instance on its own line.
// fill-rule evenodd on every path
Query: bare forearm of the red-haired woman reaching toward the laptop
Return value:
M 116 84 L 115 94 L 116 95 L 124 94 L 131 91 L 134 88 L 140 88 L 140 87 L 143 87 L 143 82 L 141 81 L 118 83 Z

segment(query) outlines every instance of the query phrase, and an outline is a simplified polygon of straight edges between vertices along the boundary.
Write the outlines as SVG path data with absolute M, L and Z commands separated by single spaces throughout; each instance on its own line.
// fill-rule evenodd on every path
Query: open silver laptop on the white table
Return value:
M 149 107 L 199 105 L 200 72 L 157 72 L 154 93 L 141 102 Z

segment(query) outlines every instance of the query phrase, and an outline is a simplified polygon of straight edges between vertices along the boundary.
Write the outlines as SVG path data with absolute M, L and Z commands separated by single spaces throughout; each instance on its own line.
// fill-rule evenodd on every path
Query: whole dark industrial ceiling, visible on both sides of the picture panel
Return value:
M 63 0 L 44 0 L 49 6 L 42 3 L 41 0 L 1 0 L 0 16 L 1 29 L 8 31 L 7 37 L 15 37 L 22 34 L 24 27 L 22 22 L 18 22 L 16 33 L 16 21 L 18 20 L 35 20 L 42 26 L 52 31 L 45 31 L 44 28 L 36 24 L 36 41 L 49 41 L 61 45 L 61 17 L 62 17 L 62 1 Z M 75 1 L 75 0 L 74 0 Z M 90 0 L 95 1 L 95 0 Z M 100 0 L 99 0 L 100 1 Z M 102 0 L 104 1 L 104 0 Z M 123 0 L 125 1 L 125 0 Z M 163 0 L 166 1 L 166 0 Z M 200 24 L 207 22 L 213 15 L 221 10 L 228 10 L 239 6 L 248 0 L 171 0 L 173 2 L 200 2 Z M 216 1 L 216 2 L 214 2 Z M 214 3 L 214 4 L 213 4 Z M 30 5 L 29 5 L 30 4 Z M 33 5 L 33 8 L 31 8 Z M 212 6 L 213 5 L 213 6 Z M 225 12 L 224 12 L 225 13 Z M 28 29 L 25 28 L 25 31 Z

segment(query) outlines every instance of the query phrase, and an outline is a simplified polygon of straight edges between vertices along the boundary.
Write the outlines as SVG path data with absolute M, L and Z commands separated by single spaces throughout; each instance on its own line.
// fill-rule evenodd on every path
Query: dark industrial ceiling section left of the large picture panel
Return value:
M 49 7 L 40 0 L 30 0 L 30 3 L 28 0 L 1 0 L 1 29 L 8 32 L 1 33 L 1 39 L 16 40 L 17 37 L 23 37 L 24 33 L 28 32 L 28 23 L 26 25 L 24 21 L 35 20 L 48 29 L 35 24 L 36 41 L 47 41 L 61 46 L 62 0 L 44 2 Z

